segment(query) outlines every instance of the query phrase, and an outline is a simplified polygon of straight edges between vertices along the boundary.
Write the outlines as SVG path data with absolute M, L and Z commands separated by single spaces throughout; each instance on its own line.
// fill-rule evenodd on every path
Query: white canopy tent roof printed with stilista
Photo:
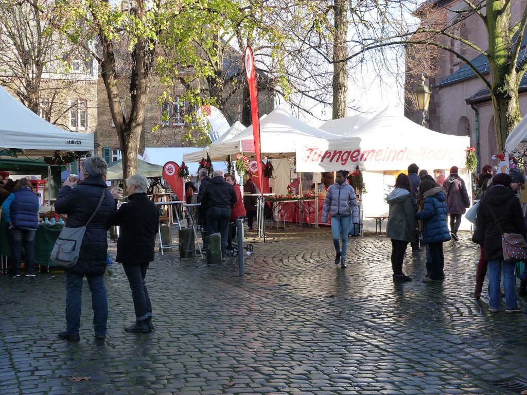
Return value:
M 93 151 L 92 133 L 69 132 L 52 125 L 2 86 L 0 104 L 0 149 L 24 150 L 27 157 L 53 156 L 55 151 Z

